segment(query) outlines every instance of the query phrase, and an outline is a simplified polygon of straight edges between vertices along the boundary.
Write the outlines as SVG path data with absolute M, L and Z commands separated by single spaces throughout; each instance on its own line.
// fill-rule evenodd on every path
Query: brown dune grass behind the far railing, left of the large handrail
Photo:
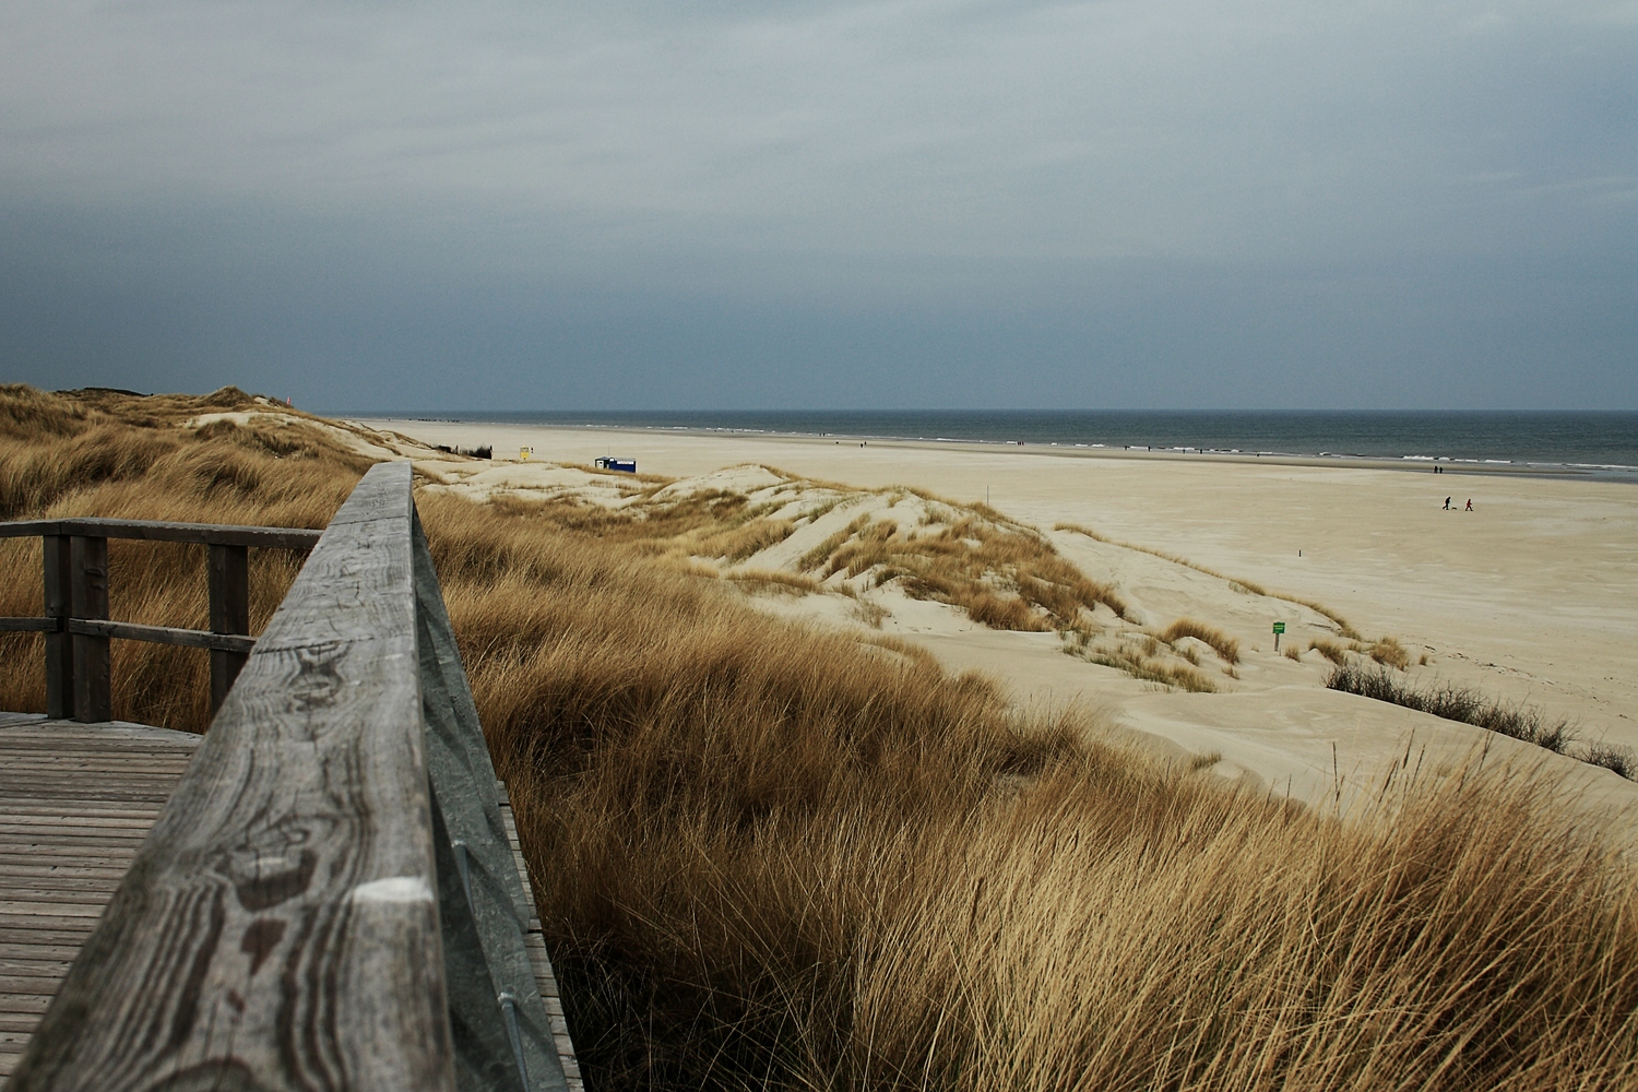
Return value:
M 0 386 L 0 519 L 108 516 L 323 527 L 367 463 L 300 427 L 177 427 L 205 411 L 254 409 L 228 388 L 203 398 L 113 391 L 52 395 Z M 259 632 L 300 568 L 300 555 L 251 550 L 251 627 Z M 205 548 L 108 544 L 116 619 L 206 627 Z M 0 540 L 0 614 L 38 616 L 38 539 Z M 0 693 L 10 709 L 44 709 L 43 639 L 0 634 Z M 113 642 L 115 715 L 203 730 L 205 652 Z

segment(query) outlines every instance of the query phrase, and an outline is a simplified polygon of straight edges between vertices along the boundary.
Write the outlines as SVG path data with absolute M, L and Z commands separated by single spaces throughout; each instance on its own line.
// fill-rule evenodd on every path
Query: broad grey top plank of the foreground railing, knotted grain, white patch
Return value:
M 324 532 L 15 1092 L 452 1089 L 410 485 L 373 467 Z

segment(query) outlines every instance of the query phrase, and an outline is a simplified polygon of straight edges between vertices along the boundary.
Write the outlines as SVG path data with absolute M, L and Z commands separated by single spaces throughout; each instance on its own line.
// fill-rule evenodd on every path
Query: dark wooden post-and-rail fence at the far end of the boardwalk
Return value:
M 113 719 L 110 639 L 210 648 L 210 709 L 256 645 L 251 637 L 249 547 L 311 548 L 316 530 L 223 527 L 151 519 L 29 519 L 0 524 L 0 539 L 43 539 L 44 617 L 0 617 L 0 632 L 46 634 L 46 712 L 75 720 Z M 108 620 L 108 539 L 201 542 L 208 550 L 210 632 Z

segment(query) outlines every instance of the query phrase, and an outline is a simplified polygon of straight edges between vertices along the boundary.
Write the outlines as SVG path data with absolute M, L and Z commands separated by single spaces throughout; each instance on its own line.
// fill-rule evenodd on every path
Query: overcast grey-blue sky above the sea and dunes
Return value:
M 8 0 L 0 380 L 1638 409 L 1638 0 Z

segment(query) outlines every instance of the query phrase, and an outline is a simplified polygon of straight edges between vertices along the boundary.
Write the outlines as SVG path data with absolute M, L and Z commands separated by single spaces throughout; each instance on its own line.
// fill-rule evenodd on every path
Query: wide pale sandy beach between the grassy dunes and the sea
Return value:
M 883 630 L 950 668 L 1001 679 L 1019 702 L 1084 701 L 1160 747 L 1220 755 L 1219 773 L 1319 799 L 1371 783 L 1407 748 L 1430 745 L 1546 761 L 1594 799 L 1622 807 L 1638 791 L 1615 774 L 1397 706 L 1324 689 L 1319 653 L 1273 652 L 1273 622 L 1292 640 L 1319 619 L 1289 599 L 1225 591 L 1227 581 L 1155 557 L 1176 555 L 1269 593 L 1312 599 L 1366 639 L 1397 637 L 1412 678 L 1473 686 L 1569 719 L 1582 740 L 1638 747 L 1638 486 L 1482 472 L 1256 462 L 1073 449 L 563 429 L 513 424 L 360 421 L 429 445 L 493 445 L 483 472 L 524 486 L 541 463 L 636 458 L 642 473 L 691 478 L 762 463 L 880 490 L 907 485 L 984 501 L 1048 532 L 1061 555 L 1114 580 L 1156 624 L 1210 617 L 1245 647 L 1224 693 L 1140 683 L 1063 655 L 1053 634 L 978 627 L 942 604 L 894 604 Z M 516 462 L 532 447 L 532 462 Z M 1451 509 L 1445 511 L 1445 498 Z M 1070 530 L 1096 530 L 1099 542 Z M 1115 545 L 1115 542 L 1122 545 Z M 1138 548 L 1130 548 L 1138 547 Z M 816 607 L 786 606 L 791 612 Z M 816 617 L 816 620 L 824 620 Z M 1638 812 L 1635 812 L 1638 814 Z

